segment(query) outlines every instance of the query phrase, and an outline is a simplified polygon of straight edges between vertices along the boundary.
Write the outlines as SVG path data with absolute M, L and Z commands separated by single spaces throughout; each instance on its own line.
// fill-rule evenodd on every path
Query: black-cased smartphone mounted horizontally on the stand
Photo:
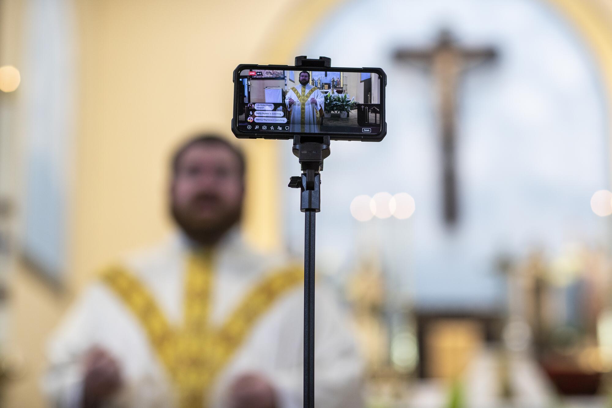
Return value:
M 386 85 L 380 68 L 241 64 L 234 70 L 232 132 L 380 142 L 387 133 Z

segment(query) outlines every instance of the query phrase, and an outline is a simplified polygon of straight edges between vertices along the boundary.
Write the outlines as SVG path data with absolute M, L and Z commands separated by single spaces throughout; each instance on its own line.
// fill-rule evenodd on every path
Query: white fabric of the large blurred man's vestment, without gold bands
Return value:
M 189 253 L 188 241 L 174 236 L 124 261 L 173 325 L 182 322 L 185 260 Z M 250 250 L 237 230 L 228 233 L 215 251 L 211 322 L 224 322 L 264 274 L 285 264 L 280 257 Z M 315 302 L 315 406 L 361 407 L 362 361 L 340 308 L 331 292 L 320 286 Z M 279 408 L 302 407 L 303 291 L 303 284 L 291 287 L 258 318 L 215 378 L 205 397 L 208 407 L 226 407 L 228 387 L 247 372 L 261 373 L 270 380 Z M 172 383 L 141 322 L 102 282 L 86 290 L 50 341 L 49 368 L 43 383 L 53 406 L 78 406 L 83 389 L 83 355 L 94 346 L 108 350 L 116 358 L 124 380 L 124 386 L 107 407 L 174 406 Z

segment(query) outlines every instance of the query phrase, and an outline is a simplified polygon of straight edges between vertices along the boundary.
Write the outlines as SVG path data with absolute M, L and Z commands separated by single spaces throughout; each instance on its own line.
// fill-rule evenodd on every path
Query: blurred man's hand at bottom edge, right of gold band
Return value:
M 271 383 L 260 374 L 244 374 L 230 387 L 231 408 L 275 408 L 276 396 Z

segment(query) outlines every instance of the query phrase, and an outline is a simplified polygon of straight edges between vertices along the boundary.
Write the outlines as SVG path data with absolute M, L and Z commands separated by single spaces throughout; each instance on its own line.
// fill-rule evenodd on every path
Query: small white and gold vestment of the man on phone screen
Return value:
M 310 102 L 313 98 L 315 98 L 315 103 Z M 289 99 L 294 100 L 292 105 L 289 105 Z M 300 83 L 291 86 L 285 95 L 285 104 L 291 109 L 289 111 L 289 130 L 291 132 L 318 133 L 321 131 L 316 115 L 319 109 L 323 109 L 325 97 L 318 88 Z

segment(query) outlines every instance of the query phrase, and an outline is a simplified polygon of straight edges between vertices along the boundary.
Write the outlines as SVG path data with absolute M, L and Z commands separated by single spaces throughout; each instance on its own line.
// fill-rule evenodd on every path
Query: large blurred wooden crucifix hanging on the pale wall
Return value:
M 444 221 L 449 226 L 457 223 L 457 174 L 455 171 L 455 126 L 457 89 L 461 74 L 480 62 L 496 58 L 494 48 L 462 48 L 448 30 L 442 30 L 433 48 L 403 48 L 395 52 L 395 59 L 403 62 L 424 62 L 436 81 L 438 109 L 442 132 L 442 189 Z

